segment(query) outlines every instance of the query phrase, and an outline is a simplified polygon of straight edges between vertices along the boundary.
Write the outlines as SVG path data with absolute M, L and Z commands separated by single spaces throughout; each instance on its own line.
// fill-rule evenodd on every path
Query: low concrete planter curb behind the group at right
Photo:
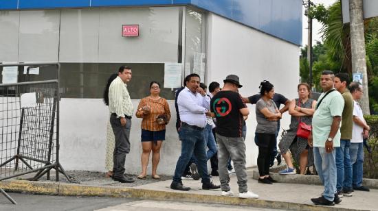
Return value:
M 322 185 L 320 179 L 317 175 L 280 175 L 279 173 L 270 173 L 273 179 L 276 179 L 278 182 L 281 183 L 293 183 L 293 184 L 314 184 L 314 185 Z M 258 179 L 258 171 L 254 170 L 252 173 L 252 179 Z M 366 179 L 363 180 L 364 186 L 368 188 L 378 189 L 378 179 Z

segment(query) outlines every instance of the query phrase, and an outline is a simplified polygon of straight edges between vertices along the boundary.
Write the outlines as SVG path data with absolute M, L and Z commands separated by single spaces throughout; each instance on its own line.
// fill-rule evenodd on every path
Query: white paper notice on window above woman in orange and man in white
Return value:
M 164 88 L 181 87 L 181 63 L 164 63 Z

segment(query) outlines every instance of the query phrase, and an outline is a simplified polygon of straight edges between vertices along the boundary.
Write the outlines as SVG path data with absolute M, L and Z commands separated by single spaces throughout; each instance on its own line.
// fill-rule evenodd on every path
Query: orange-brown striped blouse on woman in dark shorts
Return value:
M 143 111 L 140 110 L 140 108 L 145 105 L 151 108 L 151 112 L 149 114 L 144 114 Z M 170 120 L 170 110 L 166 99 L 162 97 L 159 99 L 144 97 L 144 99 L 140 100 L 136 116 L 143 118 L 141 125 L 142 129 L 149 131 L 161 131 L 166 129 L 166 125 L 157 124 L 156 117 L 161 114 L 166 114 L 168 116 L 168 121 Z

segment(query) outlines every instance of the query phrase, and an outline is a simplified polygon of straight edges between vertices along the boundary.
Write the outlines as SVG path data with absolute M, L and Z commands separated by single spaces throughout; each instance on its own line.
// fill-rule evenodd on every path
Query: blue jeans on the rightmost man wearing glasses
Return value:
M 351 153 L 351 164 L 353 169 L 353 188 L 361 187 L 364 173 L 364 143 L 351 143 L 349 153 Z

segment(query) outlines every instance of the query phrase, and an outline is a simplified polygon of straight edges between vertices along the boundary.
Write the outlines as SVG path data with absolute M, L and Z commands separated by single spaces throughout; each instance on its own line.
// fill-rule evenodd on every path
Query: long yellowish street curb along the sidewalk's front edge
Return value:
M 253 206 L 283 210 L 337 210 L 351 211 L 354 209 L 315 206 L 303 203 L 269 201 L 263 199 L 239 199 L 219 195 L 203 195 L 196 193 L 177 193 L 162 190 L 146 190 L 139 188 L 123 188 L 113 186 L 85 186 L 60 182 L 32 182 L 24 180 L 8 180 L 0 182 L 0 188 L 8 192 L 38 193 L 43 195 L 82 196 L 82 197 L 121 197 L 135 199 L 153 199 L 168 201 L 186 201 L 197 203 L 219 203 L 225 205 Z

